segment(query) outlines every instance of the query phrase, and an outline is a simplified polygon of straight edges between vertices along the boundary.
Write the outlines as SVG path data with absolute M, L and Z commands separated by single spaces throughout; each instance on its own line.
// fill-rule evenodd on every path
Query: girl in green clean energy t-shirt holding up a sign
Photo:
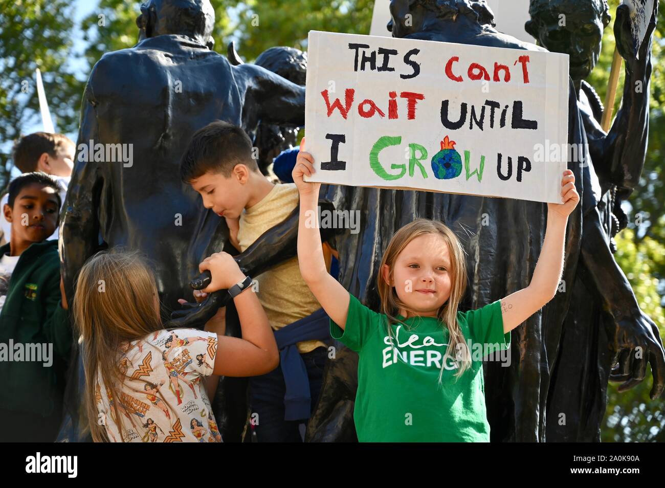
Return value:
M 509 348 L 510 331 L 557 293 L 568 216 L 579 203 L 573 172 L 563 172 L 563 203 L 547 204 L 545 242 L 528 287 L 458 311 L 467 285 L 464 249 L 443 223 L 418 219 L 388 244 L 377 313 L 327 272 L 319 230 L 310 224 L 321 183 L 303 180 L 315 172 L 303 142 L 293 169 L 300 271 L 331 317 L 332 336 L 358 352 L 358 440 L 489 441 L 482 361 Z

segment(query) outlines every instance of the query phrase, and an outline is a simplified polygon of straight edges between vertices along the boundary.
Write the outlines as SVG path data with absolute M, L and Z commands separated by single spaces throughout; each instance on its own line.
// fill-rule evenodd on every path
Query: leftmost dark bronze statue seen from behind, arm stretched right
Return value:
M 198 263 L 225 249 L 229 232 L 225 221 L 205 209 L 198 193 L 180 181 L 186 144 L 196 130 L 216 119 L 248 132 L 259 121 L 303 126 L 305 88 L 255 64 L 232 66 L 211 51 L 214 10 L 208 0 L 149 0 L 141 12 L 140 41 L 130 49 L 106 53 L 86 84 L 60 249 L 70 301 L 76 275 L 94 253 L 118 245 L 143 251 L 154 263 L 163 315 L 168 318 L 171 310 L 180 309 L 178 299 L 191 293 L 189 283 L 198 274 Z M 93 157 L 97 144 L 102 148 L 99 159 Z M 109 148 L 115 150 L 115 144 L 129 157 L 110 161 Z M 112 155 L 115 159 L 118 153 Z M 241 269 L 256 276 L 270 263 L 293 257 L 297 220 L 296 209 L 293 222 L 286 221 L 241 253 Z M 223 304 L 224 295 L 228 296 L 212 294 L 209 303 Z M 192 314 L 192 320 L 197 316 Z M 233 313 L 229 317 L 229 333 L 239 332 L 234 330 Z M 76 361 L 76 354 L 72 356 Z M 79 368 L 71 370 L 67 396 L 75 424 Z M 241 400 L 231 407 L 238 422 L 232 422 L 233 412 L 225 410 L 220 428 L 242 428 L 244 400 L 242 395 L 237 398 Z M 76 425 L 65 431 L 68 434 L 61 433 L 61 438 L 69 435 L 74 440 Z M 222 434 L 229 440 L 239 435 L 237 429 Z

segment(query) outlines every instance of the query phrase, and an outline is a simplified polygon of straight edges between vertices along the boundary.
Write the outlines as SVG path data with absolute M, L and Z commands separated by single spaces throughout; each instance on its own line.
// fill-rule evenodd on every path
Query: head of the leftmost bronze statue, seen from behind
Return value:
M 215 9 L 209 0 L 148 0 L 141 5 L 136 25 L 143 37 L 179 34 L 212 48 Z

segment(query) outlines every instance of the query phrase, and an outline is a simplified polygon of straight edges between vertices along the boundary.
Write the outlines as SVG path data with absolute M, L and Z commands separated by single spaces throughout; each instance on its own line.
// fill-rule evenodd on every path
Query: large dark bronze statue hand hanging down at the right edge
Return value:
M 609 380 L 623 382 L 618 391 L 624 392 L 644 380 L 646 363 L 651 364 L 654 384 L 649 394 L 658 398 L 665 387 L 665 351 L 656 324 L 642 312 L 628 317 L 617 317 L 614 336 L 616 360 Z

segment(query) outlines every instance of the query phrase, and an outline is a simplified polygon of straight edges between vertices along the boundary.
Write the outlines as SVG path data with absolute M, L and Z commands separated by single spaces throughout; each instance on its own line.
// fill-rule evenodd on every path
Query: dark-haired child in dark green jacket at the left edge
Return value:
M 11 222 L 0 264 L 9 289 L 0 312 L 0 441 L 54 441 L 61 422 L 72 329 L 60 275 L 60 187 L 45 173 L 9 183 Z

